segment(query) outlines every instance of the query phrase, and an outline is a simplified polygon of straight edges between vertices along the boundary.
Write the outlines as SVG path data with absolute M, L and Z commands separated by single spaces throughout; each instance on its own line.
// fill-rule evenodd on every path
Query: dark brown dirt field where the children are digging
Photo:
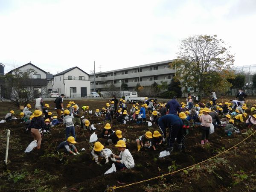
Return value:
M 65 105 L 69 100 L 65 100 Z M 106 101 L 100 100 L 78 100 L 81 107 L 89 105 L 90 109 L 105 107 Z M 247 105 L 256 102 L 251 98 Z M 50 110 L 54 113 L 53 101 L 48 102 Z M 0 116 L 3 111 L 13 109 L 8 102 L 2 102 Z M 128 105 L 131 108 L 131 104 Z M 18 113 L 18 111 L 15 111 Z M 101 133 L 105 125 L 104 118 L 87 115 L 95 125 L 96 134 Z M 100 124 L 99 124 L 100 123 Z M 98 125 L 99 124 L 99 125 Z M 227 137 L 223 129 L 215 129 L 210 135 L 210 143 L 201 146 L 201 131 L 198 127 L 192 127 L 186 137 L 186 151 L 175 151 L 168 157 L 158 158 L 159 152 L 165 150 L 164 146 L 156 151 L 137 152 L 135 140 L 145 134 L 145 131 L 159 130 L 156 125 L 148 128 L 145 125 L 136 125 L 128 122 L 126 125 L 116 125 L 116 120 L 111 122 L 113 130 L 120 129 L 123 137 L 127 140 L 129 151 L 134 157 L 135 167 L 125 171 L 103 175 L 111 163 L 104 165 L 103 161 L 97 165 L 92 160 L 91 149 L 93 144 L 89 143 L 89 130 L 76 128 L 77 144 L 80 155 L 58 155 L 55 152 L 59 143 L 65 140 L 65 128 L 61 125 L 52 128 L 51 134 L 42 138 L 40 150 L 24 153 L 27 145 L 32 142 L 32 136 L 25 131 L 25 125 L 17 119 L 12 122 L 0 124 L 0 191 L 104 191 L 106 186 L 122 186 L 156 177 L 165 173 L 175 171 L 195 163 L 206 160 L 227 148 L 239 143 L 255 128 L 247 129 L 244 124 L 236 125 L 241 133 Z M 8 169 L 4 169 L 6 150 L 6 130 L 11 130 L 9 143 Z M 253 191 L 256 190 L 256 159 L 255 146 L 256 134 L 237 146 L 235 149 L 221 155 L 200 166 L 192 167 L 175 175 L 161 177 L 160 179 L 116 189 L 115 191 Z M 106 139 L 99 139 L 105 144 Z M 113 146 L 106 146 L 118 154 Z M 80 151 L 85 148 L 85 151 Z

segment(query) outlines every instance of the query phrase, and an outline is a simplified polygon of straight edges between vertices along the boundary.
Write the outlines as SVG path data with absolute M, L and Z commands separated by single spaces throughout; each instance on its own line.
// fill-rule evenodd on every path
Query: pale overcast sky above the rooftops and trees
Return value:
M 218 35 L 235 65 L 256 64 L 256 0 L 0 0 L 5 73 L 31 61 L 56 74 L 176 58 L 192 35 Z

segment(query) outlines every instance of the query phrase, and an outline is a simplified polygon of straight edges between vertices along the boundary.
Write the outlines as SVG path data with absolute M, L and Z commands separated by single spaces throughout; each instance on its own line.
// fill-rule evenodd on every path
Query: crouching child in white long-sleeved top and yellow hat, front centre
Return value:
M 119 140 L 115 147 L 120 151 L 119 155 L 111 154 L 111 160 L 115 162 L 116 170 L 131 169 L 134 167 L 134 159 L 130 151 L 126 148 L 124 140 Z

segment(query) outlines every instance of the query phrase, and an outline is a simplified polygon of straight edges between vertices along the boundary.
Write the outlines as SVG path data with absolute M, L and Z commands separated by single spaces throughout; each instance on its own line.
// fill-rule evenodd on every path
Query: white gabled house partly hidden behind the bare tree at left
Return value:
M 36 67 L 32 63 L 27 63 L 23 66 L 17 67 L 14 70 L 9 71 L 9 74 L 15 75 L 18 73 L 26 72 L 27 70 L 32 69 L 33 72 L 29 74 L 29 79 L 26 81 L 27 85 L 32 88 L 34 91 L 34 96 L 41 94 L 43 97 L 47 96 L 47 72 Z

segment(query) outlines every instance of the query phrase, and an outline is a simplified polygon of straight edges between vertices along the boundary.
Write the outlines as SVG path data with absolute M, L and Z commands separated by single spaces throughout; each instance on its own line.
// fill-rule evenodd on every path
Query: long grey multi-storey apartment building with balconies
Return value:
M 95 73 L 96 92 L 106 90 L 106 86 L 114 84 L 120 87 L 121 83 L 128 84 L 129 90 L 134 90 L 136 85 L 150 86 L 151 84 L 161 81 L 167 81 L 168 84 L 175 75 L 175 70 L 170 68 L 173 60 L 161 61 L 157 63 L 144 64 L 135 67 L 128 67 L 118 70 Z M 94 91 L 94 74 L 89 76 L 91 82 L 91 91 Z

